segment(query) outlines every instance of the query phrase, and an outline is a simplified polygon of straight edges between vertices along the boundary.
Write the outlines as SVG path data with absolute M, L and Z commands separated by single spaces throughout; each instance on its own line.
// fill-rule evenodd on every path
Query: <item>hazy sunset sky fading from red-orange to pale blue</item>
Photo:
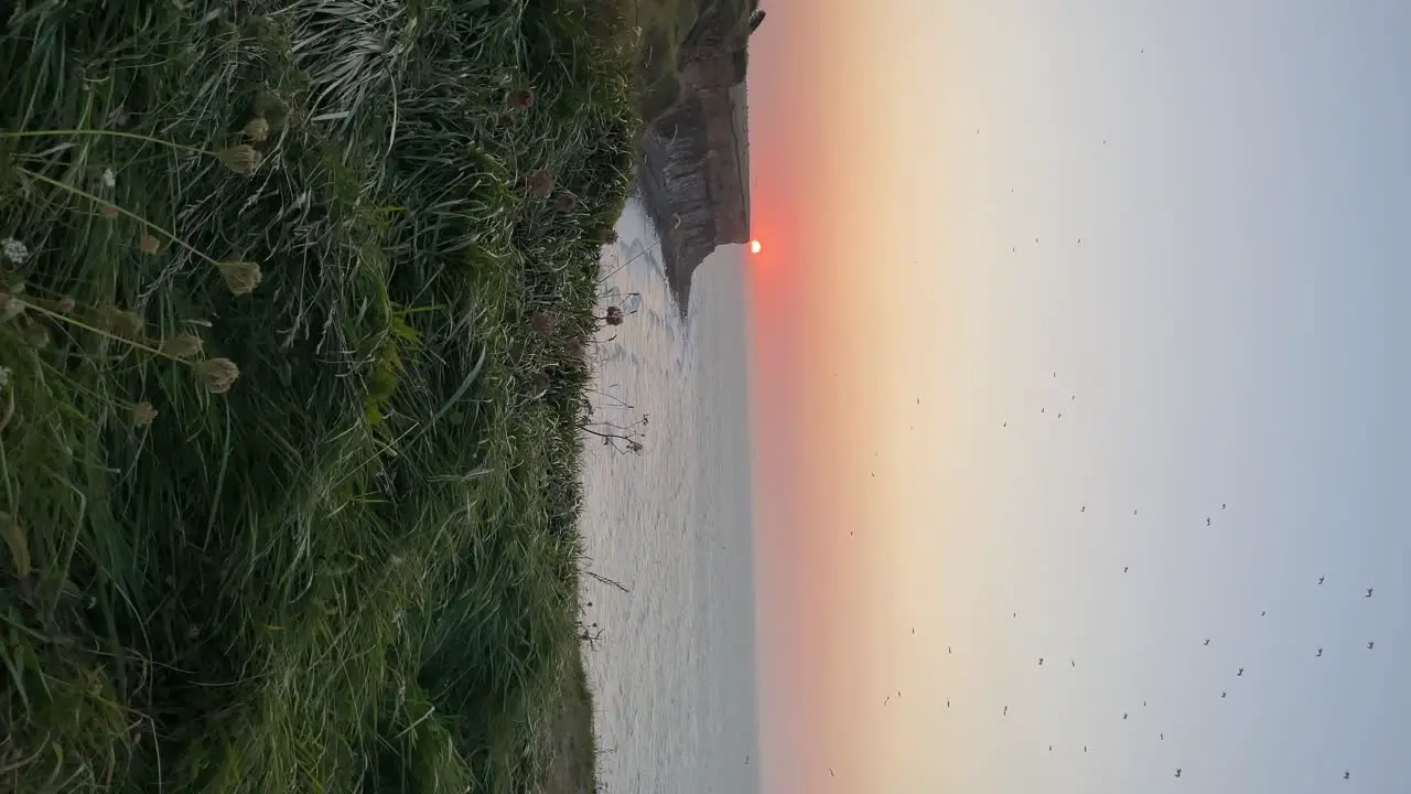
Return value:
M 1411 4 L 763 7 L 761 790 L 1411 790 Z

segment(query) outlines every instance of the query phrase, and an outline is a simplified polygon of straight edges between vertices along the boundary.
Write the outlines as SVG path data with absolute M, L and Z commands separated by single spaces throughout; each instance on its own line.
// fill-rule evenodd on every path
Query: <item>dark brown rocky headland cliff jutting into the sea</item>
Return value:
M 691 274 L 721 243 L 749 240 L 746 42 L 758 0 L 714 0 L 680 49 L 680 99 L 648 124 L 638 189 L 686 314 Z

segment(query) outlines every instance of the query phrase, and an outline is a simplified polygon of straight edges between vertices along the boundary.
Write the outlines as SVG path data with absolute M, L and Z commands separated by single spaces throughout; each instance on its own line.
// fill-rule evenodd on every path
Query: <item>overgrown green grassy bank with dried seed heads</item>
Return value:
M 577 427 L 622 14 L 20 3 L 0 790 L 591 788 Z

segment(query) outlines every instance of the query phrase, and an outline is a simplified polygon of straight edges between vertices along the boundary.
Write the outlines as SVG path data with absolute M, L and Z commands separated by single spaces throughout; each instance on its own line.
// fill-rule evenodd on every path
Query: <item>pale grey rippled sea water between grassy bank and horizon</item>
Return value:
M 600 781 L 625 793 L 758 791 L 745 292 L 738 250 L 696 271 L 680 318 L 635 203 L 604 254 L 602 418 L 646 414 L 641 454 L 588 444 L 584 533 Z M 618 405 L 628 403 L 632 408 Z M 614 408 L 614 405 L 618 405 Z M 590 439 L 591 441 L 591 439 Z M 748 763 L 746 763 L 748 759 Z

